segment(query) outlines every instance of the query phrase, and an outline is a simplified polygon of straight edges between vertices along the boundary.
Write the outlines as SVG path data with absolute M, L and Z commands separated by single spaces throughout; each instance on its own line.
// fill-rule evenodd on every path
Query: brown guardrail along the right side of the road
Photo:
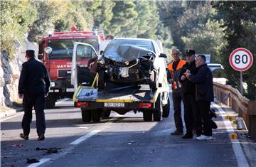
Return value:
M 238 117 L 245 120 L 245 124 L 249 127 L 251 138 L 256 140 L 256 101 L 250 101 L 243 97 L 238 90 L 230 85 L 213 83 L 214 97 L 223 104 L 231 107 Z

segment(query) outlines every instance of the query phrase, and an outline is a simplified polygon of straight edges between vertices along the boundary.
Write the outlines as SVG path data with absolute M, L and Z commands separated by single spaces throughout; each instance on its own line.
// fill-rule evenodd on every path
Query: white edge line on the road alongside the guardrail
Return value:
M 220 112 L 220 116 L 223 119 L 225 128 L 228 130 L 228 134 L 230 135 L 230 134 L 235 133 L 230 120 L 225 119 L 225 116 L 227 115 L 227 114 L 225 114 L 225 111 L 215 103 L 212 103 L 212 105 L 213 105 L 213 107 L 218 109 L 218 112 Z M 245 153 L 242 150 L 240 141 L 238 139 L 234 139 L 234 140 L 232 139 L 231 143 L 232 143 L 232 146 L 233 146 L 235 157 L 236 157 L 237 162 L 238 162 L 238 167 L 249 167 L 249 164 L 248 164 L 247 159 L 245 157 Z

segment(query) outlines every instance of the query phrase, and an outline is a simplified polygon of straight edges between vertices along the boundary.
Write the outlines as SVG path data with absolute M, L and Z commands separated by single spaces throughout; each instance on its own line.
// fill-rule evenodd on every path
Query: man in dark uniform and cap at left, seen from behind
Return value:
M 30 124 L 32 121 L 32 108 L 36 112 L 36 129 L 38 140 L 45 139 L 46 119 L 43 112 L 45 97 L 50 89 L 50 78 L 43 63 L 35 59 L 34 50 L 26 50 L 27 62 L 23 63 L 20 80 L 18 82 L 18 95 L 23 97 L 24 115 L 22 119 L 23 133 L 21 138 L 28 140 Z

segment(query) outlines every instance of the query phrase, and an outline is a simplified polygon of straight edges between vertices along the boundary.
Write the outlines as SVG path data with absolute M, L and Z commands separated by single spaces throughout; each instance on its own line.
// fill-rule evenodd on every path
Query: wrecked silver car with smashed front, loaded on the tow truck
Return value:
M 98 59 L 100 89 L 107 82 L 139 85 L 149 84 L 152 90 L 159 87 L 159 70 L 165 71 L 161 48 L 153 40 L 117 38 L 112 40 Z M 160 55 L 160 56 L 159 56 Z

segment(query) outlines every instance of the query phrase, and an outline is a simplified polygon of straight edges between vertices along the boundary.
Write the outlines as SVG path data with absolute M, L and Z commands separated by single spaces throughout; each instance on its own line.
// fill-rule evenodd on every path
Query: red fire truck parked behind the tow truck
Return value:
M 53 108 L 57 99 L 73 97 L 74 87 L 71 85 L 70 75 L 74 42 L 89 43 L 99 52 L 100 43 L 104 39 L 103 31 L 54 32 L 42 38 L 38 59 L 46 65 L 51 80 L 46 108 Z M 84 59 L 83 63 L 87 65 L 90 59 Z M 88 72 L 90 73 L 89 70 Z

